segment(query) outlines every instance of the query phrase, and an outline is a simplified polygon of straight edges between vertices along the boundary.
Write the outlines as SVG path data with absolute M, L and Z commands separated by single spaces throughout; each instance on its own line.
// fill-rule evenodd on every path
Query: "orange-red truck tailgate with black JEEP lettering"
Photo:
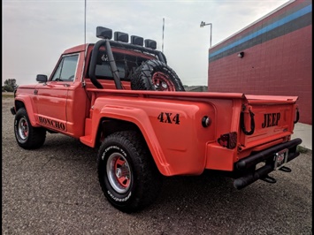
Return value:
M 288 140 L 293 133 L 296 96 L 245 95 L 248 105 L 241 111 L 241 146 L 272 146 Z

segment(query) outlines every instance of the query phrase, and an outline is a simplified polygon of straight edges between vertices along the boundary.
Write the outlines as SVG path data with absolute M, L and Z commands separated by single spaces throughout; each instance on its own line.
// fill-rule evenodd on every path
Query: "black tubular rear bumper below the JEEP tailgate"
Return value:
M 270 172 L 275 171 L 273 168 L 273 156 L 282 149 L 288 149 L 287 163 L 295 159 L 295 157 L 300 155 L 296 151 L 296 147 L 301 143 L 302 140 L 297 138 L 241 159 L 234 165 L 237 175 L 241 176 L 234 180 L 234 187 L 242 189 L 254 183 L 257 179 L 265 178 Z M 257 163 L 263 162 L 265 163 L 263 167 L 252 171 L 252 169 L 255 169 Z

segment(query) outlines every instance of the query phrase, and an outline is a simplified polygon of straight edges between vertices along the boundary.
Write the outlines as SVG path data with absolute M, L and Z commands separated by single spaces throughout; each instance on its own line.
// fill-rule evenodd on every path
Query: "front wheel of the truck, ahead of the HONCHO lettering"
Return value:
M 20 108 L 15 115 L 14 133 L 19 146 L 25 149 L 40 148 L 46 140 L 46 130 L 31 125 L 25 108 Z

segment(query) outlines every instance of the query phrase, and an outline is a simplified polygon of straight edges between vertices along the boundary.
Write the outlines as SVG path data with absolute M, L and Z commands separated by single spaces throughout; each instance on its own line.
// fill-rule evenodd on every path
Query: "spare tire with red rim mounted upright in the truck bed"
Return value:
M 131 76 L 133 90 L 184 91 L 177 73 L 164 62 L 148 60 Z

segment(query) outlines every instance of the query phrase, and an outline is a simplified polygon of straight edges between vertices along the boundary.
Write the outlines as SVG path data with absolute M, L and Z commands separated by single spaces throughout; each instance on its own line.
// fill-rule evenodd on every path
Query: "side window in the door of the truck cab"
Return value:
M 57 66 L 57 70 L 51 80 L 73 81 L 79 55 L 63 57 Z

